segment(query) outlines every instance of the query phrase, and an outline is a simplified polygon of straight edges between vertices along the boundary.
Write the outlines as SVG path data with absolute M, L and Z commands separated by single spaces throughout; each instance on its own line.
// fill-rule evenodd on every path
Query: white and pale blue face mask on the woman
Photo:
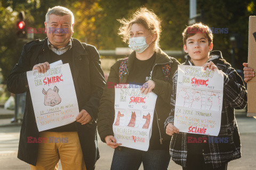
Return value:
M 147 36 L 147 37 L 149 37 L 149 36 Z M 147 37 L 133 37 L 133 38 L 130 38 L 129 47 L 137 53 L 144 52 L 144 50 L 147 49 L 148 46 L 152 43 L 152 42 L 149 43 L 149 44 L 146 43 L 146 38 Z

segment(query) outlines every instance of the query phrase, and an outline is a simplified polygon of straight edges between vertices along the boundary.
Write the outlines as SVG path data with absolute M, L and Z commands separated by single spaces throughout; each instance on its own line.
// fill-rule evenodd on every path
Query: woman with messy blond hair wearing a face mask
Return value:
M 100 101 L 99 135 L 103 142 L 115 149 L 111 169 L 139 169 L 141 163 L 144 169 L 167 169 L 170 162 L 170 137 L 165 133 L 164 121 L 171 110 L 171 80 L 179 62 L 159 48 L 161 21 L 153 12 L 142 7 L 133 13 L 130 20 L 118 21 L 122 24 L 119 35 L 123 41 L 129 40 L 129 47 L 133 52 L 111 67 Z M 117 83 L 139 84 L 145 95 L 153 91 L 158 96 L 148 151 L 122 147 L 121 143 L 116 143 L 113 132 L 113 85 Z

